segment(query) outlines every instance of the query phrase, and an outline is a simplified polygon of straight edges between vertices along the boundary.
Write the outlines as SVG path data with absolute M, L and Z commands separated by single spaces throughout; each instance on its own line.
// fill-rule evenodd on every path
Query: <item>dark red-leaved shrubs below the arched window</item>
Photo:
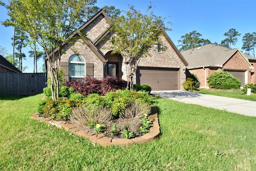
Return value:
M 126 81 L 110 76 L 107 76 L 102 80 L 97 80 L 96 78 L 86 78 L 84 82 L 81 82 L 80 80 L 72 80 L 71 82 L 67 82 L 65 84 L 67 87 L 73 87 L 76 93 L 80 93 L 85 97 L 92 93 L 105 95 L 110 91 L 125 89 L 126 85 Z

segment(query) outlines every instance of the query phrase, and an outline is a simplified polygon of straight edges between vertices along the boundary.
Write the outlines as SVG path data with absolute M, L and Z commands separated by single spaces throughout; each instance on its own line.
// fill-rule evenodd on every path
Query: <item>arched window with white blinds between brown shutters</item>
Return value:
M 80 55 L 72 55 L 69 58 L 69 80 L 81 79 L 85 77 L 85 62 Z

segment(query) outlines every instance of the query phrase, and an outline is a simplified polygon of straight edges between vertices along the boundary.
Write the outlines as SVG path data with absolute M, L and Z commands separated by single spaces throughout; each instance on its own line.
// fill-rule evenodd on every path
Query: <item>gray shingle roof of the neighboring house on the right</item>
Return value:
M 236 50 L 238 49 L 228 49 L 220 45 L 208 44 L 180 53 L 188 62 L 187 68 L 198 68 L 202 66 L 220 66 L 230 58 Z M 247 59 L 251 57 L 245 54 L 244 56 Z

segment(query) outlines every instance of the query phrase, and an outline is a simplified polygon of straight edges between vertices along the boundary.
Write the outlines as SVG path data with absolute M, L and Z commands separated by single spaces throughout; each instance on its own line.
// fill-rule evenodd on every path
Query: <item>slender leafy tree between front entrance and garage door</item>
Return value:
M 111 31 L 116 34 L 113 40 L 113 52 L 121 54 L 126 60 L 127 89 L 133 89 L 134 75 L 141 58 L 146 58 L 148 49 L 161 42 L 159 29 L 163 23 L 162 17 L 155 16 L 149 12 L 152 6 L 148 6 L 149 14 L 141 14 L 140 11 L 129 6 L 130 10 L 112 18 Z

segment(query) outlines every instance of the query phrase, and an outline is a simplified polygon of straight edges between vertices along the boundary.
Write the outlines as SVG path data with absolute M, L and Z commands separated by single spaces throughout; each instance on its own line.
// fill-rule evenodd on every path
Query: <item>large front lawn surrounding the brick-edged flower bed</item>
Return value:
M 0 170 L 256 170 L 256 117 L 156 97 L 159 139 L 101 147 L 30 119 L 41 97 L 0 98 Z

